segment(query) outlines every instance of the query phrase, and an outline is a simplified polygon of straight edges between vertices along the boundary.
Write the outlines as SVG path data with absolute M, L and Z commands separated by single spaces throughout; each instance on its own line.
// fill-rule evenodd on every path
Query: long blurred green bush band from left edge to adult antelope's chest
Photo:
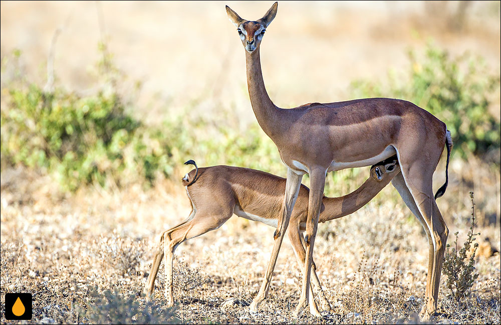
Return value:
M 183 112 L 160 126 L 144 125 L 129 113 L 134 103 L 118 95 L 119 79 L 109 76 L 116 70 L 101 72 L 105 86 L 87 96 L 62 88 L 48 93 L 26 80 L 7 83 L 2 89 L 7 107 L 0 115 L 2 166 L 45 169 L 57 176 L 64 190 L 74 191 L 92 183 L 149 184 L 161 175 L 171 177 L 174 167 L 190 158 L 201 166 L 267 169 L 281 164 L 273 142 L 257 123 L 243 130 L 221 125 L 214 129 Z M 274 162 L 269 158 L 273 156 Z

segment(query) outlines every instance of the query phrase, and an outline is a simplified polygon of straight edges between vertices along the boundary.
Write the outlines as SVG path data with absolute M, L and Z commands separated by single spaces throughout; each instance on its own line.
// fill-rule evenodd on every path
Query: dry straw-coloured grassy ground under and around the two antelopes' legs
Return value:
M 2 299 L 6 292 L 32 292 L 32 322 L 88 322 L 91 291 L 139 296 L 161 229 L 189 213 L 182 189 L 158 184 L 143 192 L 88 189 L 72 197 L 51 188 L 50 178 L 18 171 L 3 183 L 1 205 Z M 178 186 L 180 187 L 180 186 Z M 389 188 L 385 191 L 390 190 Z M 385 194 L 383 191 L 383 195 Z M 394 191 L 394 190 L 391 190 Z M 453 197 L 454 187 L 444 196 Z M 456 192 L 457 193 L 457 192 Z M 459 211 L 467 213 L 467 209 Z M 467 223 L 450 224 L 465 236 Z M 499 231 L 480 227 L 499 250 Z M 353 215 L 322 224 L 316 242 L 318 273 L 333 312 L 316 319 L 291 313 L 299 299 L 300 272 L 286 239 L 269 299 L 260 313 L 248 304 L 257 294 L 273 245 L 273 229 L 237 217 L 220 229 L 181 244 L 174 261 L 175 316 L 182 322 L 351 323 L 417 320 L 423 303 L 426 237 L 401 203 L 384 197 Z M 461 240 L 460 240 L 461 241 Z M 473 293 L 457 304 L 443 284 L 437 322 L 499 322 L 499 254 L 478 256 Z M 162 309 L 163 267 L 155 286 Z M 82 311 L 83 310 L 83 311 Z M 168 312 L 168 310 L 166 310 Z M 3 318 L 2 322 L 6 320 Z

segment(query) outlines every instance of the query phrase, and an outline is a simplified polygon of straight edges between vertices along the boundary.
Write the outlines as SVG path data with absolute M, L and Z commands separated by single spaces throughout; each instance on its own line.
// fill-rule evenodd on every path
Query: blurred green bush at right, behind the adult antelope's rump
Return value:
M 464 54 L 452 58 L 428 45 L 424 57 L 409 52 L 406 74 L 388 73 L 388 80 L 352 83 L 353 97 L 392 97 L 408 100 L 447 124 L 453 153 L 485 156 L 499 165 L 500 124 L 489 111 L 499 100 L 499 74 L 482 58 Z M 487 154 L 487 155 L 486 155 Z

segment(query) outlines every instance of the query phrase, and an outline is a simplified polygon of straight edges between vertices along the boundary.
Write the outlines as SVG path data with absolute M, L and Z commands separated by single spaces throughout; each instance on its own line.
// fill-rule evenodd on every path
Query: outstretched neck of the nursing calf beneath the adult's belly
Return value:
M 389 180 L 387 182 L 376 182 L 372 178 L 369 178 L 362 186 L 350 194 L 341 197 L 324 197 L 322 202 L 325 209 L 320 214 L 319 222 L 341 218 L 357 211 L 372 200 L 388 183 Z

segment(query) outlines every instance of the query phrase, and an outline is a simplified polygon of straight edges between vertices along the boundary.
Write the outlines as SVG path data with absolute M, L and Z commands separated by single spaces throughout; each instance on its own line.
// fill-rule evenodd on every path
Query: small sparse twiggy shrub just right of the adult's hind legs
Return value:
M 473 227 L 475 226 L 475 211 L 473 202 L 473 192 L 470 192 L 471 197 L 471 227 L 468 231 L 468 238 L 464 242 L 461 249 L 457 250 L 457 232 L 454 233 L 456 239 L 454 240 L 454 247 L 450 248 L 447 244 L 445 256 L 443 260 L 443 273 L 447 275 L 447 288 L 452 292 L 452 295 L 459 301 L 461 298 L 466 297 L 473 282 L 477 279 L 478 273 L 475 272 L 475 252 L 478 243 L 474 243 L 475 238 Z M 470 254 L 469 256 L 467 254 Z

